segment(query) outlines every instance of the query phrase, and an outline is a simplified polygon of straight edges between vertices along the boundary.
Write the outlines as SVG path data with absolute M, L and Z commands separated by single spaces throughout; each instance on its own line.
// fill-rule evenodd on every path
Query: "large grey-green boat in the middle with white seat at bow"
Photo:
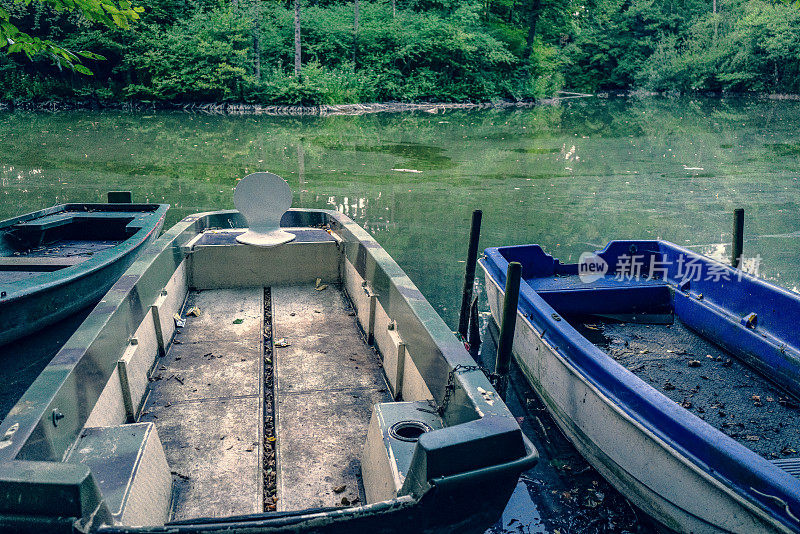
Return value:
M 348 217 L 243 196 L 141 254 L 0 424 L 0 530 L 500 517 L 538 455 L 463 344 Z

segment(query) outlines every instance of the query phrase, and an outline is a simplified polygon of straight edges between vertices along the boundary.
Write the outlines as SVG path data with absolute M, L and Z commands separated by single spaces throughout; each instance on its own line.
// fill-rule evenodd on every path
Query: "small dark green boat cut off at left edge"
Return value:
M 0 222 L 0 345 L 96 304 L 161 232 L 166 204 L 61 204 Z

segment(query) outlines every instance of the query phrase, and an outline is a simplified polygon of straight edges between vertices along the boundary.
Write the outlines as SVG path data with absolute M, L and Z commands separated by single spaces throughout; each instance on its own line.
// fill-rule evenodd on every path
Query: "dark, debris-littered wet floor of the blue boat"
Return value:
M 677 318 L 666 325 L 570 322 L 639 378 L 754 452 L 770 460 L 798 456 L 796 399 Z

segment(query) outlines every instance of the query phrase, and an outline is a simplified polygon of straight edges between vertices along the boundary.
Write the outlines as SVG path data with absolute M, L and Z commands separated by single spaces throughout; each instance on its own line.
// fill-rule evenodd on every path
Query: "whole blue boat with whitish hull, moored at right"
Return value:
M 500 247 L 498 322 L 512 261 L 515 358 L 603 476 L 676 531 L 800 531 L 800 296 L 666 241 Z

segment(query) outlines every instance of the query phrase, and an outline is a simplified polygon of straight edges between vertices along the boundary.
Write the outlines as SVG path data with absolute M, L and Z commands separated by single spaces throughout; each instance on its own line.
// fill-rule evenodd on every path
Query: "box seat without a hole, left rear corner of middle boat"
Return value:
M 116 522 L 169 519 L 172 474 L 153 423 L 84 428 L 66 462 L 89 467 Z

